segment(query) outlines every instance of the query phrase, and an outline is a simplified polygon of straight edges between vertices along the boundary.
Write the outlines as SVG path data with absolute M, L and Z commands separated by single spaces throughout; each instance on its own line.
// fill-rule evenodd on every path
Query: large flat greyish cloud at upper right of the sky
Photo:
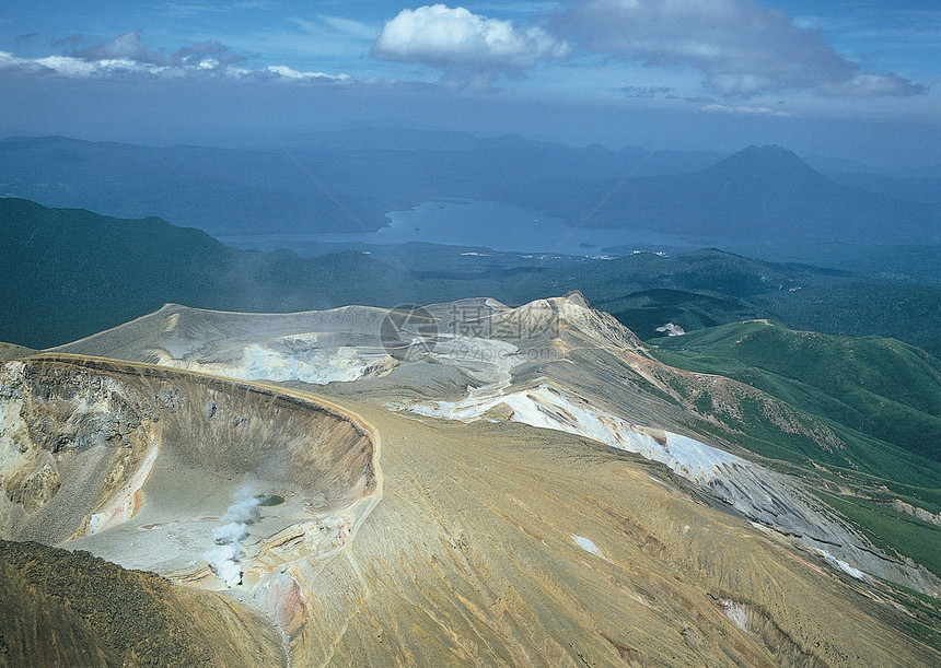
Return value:
M 653 67 L 688 66 L 715 93 L 778 91 L 913 95 L 925 87 L 895 74 L 864 74 L 821 34 L 755 0 L 584 0 L 557 16 L 585 48 Z

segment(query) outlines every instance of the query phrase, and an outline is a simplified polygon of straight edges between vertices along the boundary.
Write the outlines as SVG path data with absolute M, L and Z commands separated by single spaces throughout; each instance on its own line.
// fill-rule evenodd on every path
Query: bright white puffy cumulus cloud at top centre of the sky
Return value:
M 428 65 L 449 71 L 512 72 L 539 60 L 571 56 L 564 39 L 536 26 L 518 26 L 444 4 L 403 10 L 386 21 L 372 46 L 374 58 Z

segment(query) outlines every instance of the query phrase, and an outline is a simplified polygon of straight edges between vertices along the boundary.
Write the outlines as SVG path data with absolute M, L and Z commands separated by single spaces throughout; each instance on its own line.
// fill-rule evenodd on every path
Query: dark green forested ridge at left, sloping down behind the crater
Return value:
M 166 302 L 224 310 L 329 308 L 351 292 L 396 302 L 402 272 L 358 253 L 302 260 L 223 246 L 159 219 L 0 200 L 0 340 L 45 348 L 114 327 Z M 351 290 L 351 286 L 357 286 Z

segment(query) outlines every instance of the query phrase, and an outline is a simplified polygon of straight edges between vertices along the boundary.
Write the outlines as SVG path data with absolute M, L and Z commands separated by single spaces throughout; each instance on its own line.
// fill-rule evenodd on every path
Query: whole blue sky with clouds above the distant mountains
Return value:
M 928 1 L 14 2 L 0 134 L 234 145 L 382 121 L 927 164 L 939 63 Z

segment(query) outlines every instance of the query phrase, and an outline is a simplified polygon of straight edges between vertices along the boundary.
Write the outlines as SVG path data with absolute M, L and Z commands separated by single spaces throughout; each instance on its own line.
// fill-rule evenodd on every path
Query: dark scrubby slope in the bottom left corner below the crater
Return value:
M 247 613 L 239 620 L 212 595 L 153 573 L 88 552 L 0 540 L 3 667 L 277 665 L 274 630 L 265 646 L 252 638 L 255 624 L 264 622 Z

